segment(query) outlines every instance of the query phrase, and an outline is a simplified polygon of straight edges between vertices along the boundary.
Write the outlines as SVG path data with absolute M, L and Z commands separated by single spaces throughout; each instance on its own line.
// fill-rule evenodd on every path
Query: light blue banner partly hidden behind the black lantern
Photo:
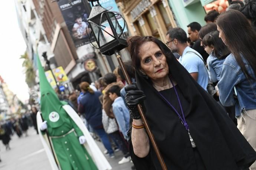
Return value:
M 120 13 L 120 11 L 119 11 L 119 9 L 116 5 L 115 0 L 99 0 L 99 3 L 101 4 L 102 7 L 106 8 L 106 10 L 108 10 L 108 11 Z M 117 18 L 118 23 L 120 24 L 120 26 L 122 28 L 124 28 L 124 19 L 119 15 L 117 15 L 116 18 Z M 126 26 L 125 26 L 125 29 L 124 29 L 124 33 L 125 32 L 127 32 Z

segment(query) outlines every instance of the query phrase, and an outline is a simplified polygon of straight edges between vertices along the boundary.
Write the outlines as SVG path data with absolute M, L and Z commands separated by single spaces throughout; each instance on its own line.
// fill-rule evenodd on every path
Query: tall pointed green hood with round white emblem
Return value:
M 53 90 L 52 86 L 49 84 L 45 71 L 41 65 L 40 59 L 37 54 L 37 67 L 39 71 L 39 85 L 41 92 L 41 112 L 44 120 L 47 120 L 47 125 L 52 128 L 56 128 L 63 124 L 61 115 L 65 114 L 65 110 L 62 108 L 65 102 L 61 102 Z

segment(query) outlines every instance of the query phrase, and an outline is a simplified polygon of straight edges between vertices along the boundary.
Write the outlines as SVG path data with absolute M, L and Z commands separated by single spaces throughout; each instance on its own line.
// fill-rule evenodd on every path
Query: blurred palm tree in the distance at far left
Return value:
M 33 67 L 32 61 L 29 59 L 27 52 L 24 52 L 23 55 L 20 56 L 20 59 L 24 59 L 22 66 L 24 67 L 24 71 L 26 74 L 26 83 L 29 88 L 32 88 L 35 84 L 36 72 Z

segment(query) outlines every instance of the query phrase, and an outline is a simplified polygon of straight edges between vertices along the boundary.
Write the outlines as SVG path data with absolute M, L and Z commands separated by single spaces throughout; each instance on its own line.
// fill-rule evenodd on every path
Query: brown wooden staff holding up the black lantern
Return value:
M 124 74 L 126 82 L 128 84 L 132 84 L 131 79 L 129 78 L 129 75 L 127 74 L 127 71 L 126 71 L 126 69 L 124 67 L 124 62 L 122 61 L 122 58 L 121 58 L 121 56 L 120 56 L 118 51 L 115 51 L 115 56 L 116 56 L 116 59 L 117 59 L 119 65 L 121 67 L 121 70 L 122 70 L 122 72 Z M 160 151 L 158 149 L 157 143 L 155 142 L 155 139 L 154 139 L 154 136 L 153 136 L 153 134 L 152 134 L 152 132 L 150 130 L 150 127 L 148 126 L 148 122 L 147 122 L 147 119 L 146 119 L 146 117 L 145 117 L 145 115 L 143 113 L 141 105 L 137 105 L 137 108 L 138 108 L 138 110 L 140 112 L 141 119 L 142 119 L 142 121 L 143 121 L 143 123 L 145 125 L 145 129 L 146 129 L 146 131 L 148 133 L 148 136 L 150 138 L 150 141 L 151 141 L 151 143 L 152 143 L 152 145 L 154 147 L 155 153 L 157 154 L 157 158 L 158 158 L 158 160 L 159 160 L 159 162 L 161 164 L 161 167 L 162 167 L 163 170 L 167 170 L 167 167 L 166 167 L 166 165 L 164 163 L 164 159 L 163 159 L 163 157 L 162 157 L 162 155 L 161 155 L 161 153 L 160 153 Z

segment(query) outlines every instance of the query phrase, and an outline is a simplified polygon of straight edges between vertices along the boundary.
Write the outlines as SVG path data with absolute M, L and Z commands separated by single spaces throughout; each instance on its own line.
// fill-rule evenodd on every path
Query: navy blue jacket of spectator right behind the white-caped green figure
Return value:
M 79 99 L 78 111 L 85 116 L 92 128 L 102 126 L 102 106 L 99 101 L 99 96 L 101 95 L 102 93 L 99 91 L 93 94 L 86 92 Z

